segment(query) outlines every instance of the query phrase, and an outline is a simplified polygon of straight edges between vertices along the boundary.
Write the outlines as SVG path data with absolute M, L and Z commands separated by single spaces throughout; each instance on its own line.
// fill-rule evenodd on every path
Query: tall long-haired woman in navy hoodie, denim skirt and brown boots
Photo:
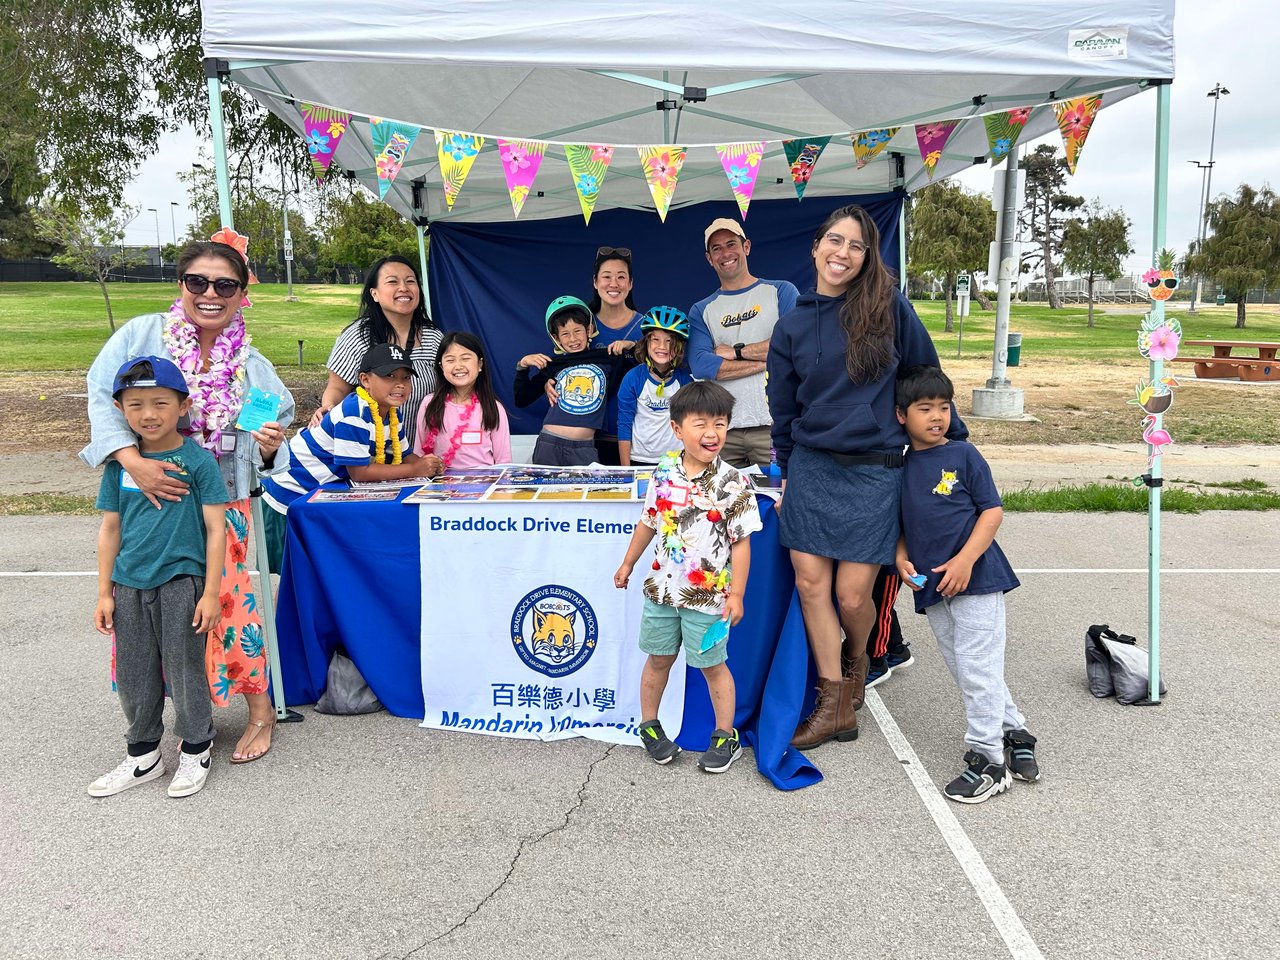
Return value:
M 879 232 L 863 207 L 832 212 L 814 234 L 812 253 L 815 289 L 778 320 L 768 358 L 783 477 L 780 538 L 791 550 L 818 668 L 817 703 L 792 740 L 801 749 L 858 739 L 855 710 L 876 616 L 872 585 L 881 564 L 893 563 L 899 538 L 906 434 L 893 412 L 895 381 L 899 367 L 938 366 L 933 340 L 884 266 Z M 959 417 L 951 434 L 968 435 Z

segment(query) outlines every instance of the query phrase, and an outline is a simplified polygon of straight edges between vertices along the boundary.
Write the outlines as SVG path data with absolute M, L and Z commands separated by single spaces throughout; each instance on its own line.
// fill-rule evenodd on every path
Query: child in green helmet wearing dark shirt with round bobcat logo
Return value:
M 595 337 L 591 311 L 577 297 L 557 297 L 547 307 L 547 333 L 563 356 L 529 353 L 516 365 L 512 393 L 521 407 L 556 384 L 556 402 L 543 419 L 532 462 L 584 467 L 596 461 L 595 431 L 604 424 L 608 398 L 617 392 L 628 358 L 608 349 L 588 349 Z

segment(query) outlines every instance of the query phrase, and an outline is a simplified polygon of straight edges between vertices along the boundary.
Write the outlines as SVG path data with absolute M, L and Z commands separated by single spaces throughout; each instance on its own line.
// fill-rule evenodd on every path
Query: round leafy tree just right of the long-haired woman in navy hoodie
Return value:
M 955 329 L 951 294 L 956 275 L 978 270 L 987 262 L 988 244 L 996 236 L 996 211 L 991 198 L 970 193 L 959 183 L 933 183 L 911 201 L 908 256 L 913 270 L 943 278 L 947 300 L 946 330 Z M 973 284 L 977 289 L 978 284 Z

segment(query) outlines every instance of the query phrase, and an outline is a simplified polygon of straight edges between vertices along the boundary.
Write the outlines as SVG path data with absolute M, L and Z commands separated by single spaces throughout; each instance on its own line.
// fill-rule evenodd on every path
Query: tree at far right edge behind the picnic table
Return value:
M 1249 291 L 1280 280 L 1280 204 L 1270 187 L 1242 183 L 1234 197 L 1215 200 L 1204 212 L 1211 233 L 1187 265 L 1222 288 L 1243 330 Z

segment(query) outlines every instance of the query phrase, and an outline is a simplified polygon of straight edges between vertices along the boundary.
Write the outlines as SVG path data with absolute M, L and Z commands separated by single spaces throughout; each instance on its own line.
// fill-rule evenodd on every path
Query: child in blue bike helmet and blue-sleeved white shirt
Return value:
M 635 347 L 640 366 L 618 387 L 618 457 L 622 466 L 653 466 L 677 447 L 671 398 L 694 376 L 685 366 L 689 317 L 676 307 L 653 307 L 640 321 Z

